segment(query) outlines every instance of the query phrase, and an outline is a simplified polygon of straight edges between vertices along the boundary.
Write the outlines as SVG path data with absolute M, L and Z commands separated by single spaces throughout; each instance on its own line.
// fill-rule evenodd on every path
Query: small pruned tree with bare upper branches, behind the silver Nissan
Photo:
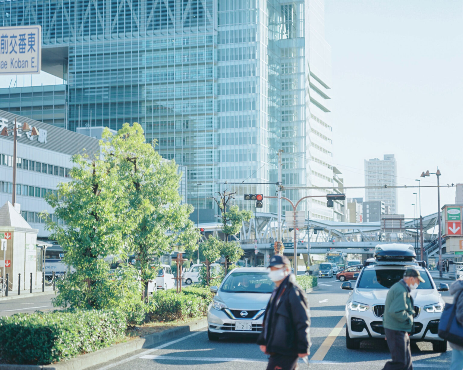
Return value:
M 239 210 L 237 205 L 228 206 L 232 199 L 235 199 L 234 193 L 226 191 L 219 194 L 219 200 L 214 198 L 220 210 L 220 222 L 222 223 L 222 232 L 224 240 L 221 244 L 220 251 L 225 257 L 224 272 L 227 274 L 228 264 L 235 263 L 240 259 L 244 251 L 240 247 L 239 242 L 230 240 L 230 236 L 236 235 L 243 227 L 243 222 L 247 222 L 252 218 L 252 212 L 248 210 Z

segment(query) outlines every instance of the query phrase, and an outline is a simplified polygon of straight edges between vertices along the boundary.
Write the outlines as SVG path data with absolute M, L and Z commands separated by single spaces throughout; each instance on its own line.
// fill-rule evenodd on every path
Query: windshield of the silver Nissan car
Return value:
M 235 272 L 228 275 L 220 291 L 227 293 L 271 293 L 274 284 L 268 272 Z

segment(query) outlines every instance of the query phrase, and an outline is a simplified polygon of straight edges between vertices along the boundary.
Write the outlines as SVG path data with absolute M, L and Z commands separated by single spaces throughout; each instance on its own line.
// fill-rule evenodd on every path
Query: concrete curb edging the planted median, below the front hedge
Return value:
M 167 339 L 174 338 L 181 334 L 189 333 L 191 331 L 200 330 L 207 327 L 207 319 L 200 319 L 193 321 L 188 325 L 181 327 L 174 327 L 159 333 L 146 335 L 143 338 L 134 339 L 129 342 L 119 343 L 111 347 L 103 348 L 101 350 L 87 353 L 85 355 L 71 358 L 68 361 L 58 364 L 50 365 L 10 365 L 0 364 L 0 370 L 84 370 L 88 367 L 103 364 L 107 361 L 113 360 L 120 356 L 124 356 L 142 348 L 147 348 L 157 343 L 163 342 Z

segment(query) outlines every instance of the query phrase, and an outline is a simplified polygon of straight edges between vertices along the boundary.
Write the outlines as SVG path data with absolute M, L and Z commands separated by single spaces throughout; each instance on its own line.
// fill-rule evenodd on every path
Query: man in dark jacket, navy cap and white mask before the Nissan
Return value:
M 269 355 L 267 370 L 294 370 L 298 359 L 310 353 L 309 303 L 296 284 L 288 257 L 273 256 L 269 268 L 275 290 L 267 304 L 257 344 Z

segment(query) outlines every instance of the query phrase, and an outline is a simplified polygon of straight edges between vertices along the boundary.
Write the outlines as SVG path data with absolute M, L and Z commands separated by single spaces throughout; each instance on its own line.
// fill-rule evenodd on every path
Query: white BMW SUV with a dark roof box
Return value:
M 410 339 L 432 342 L 433 351 L 447 351 L 447 341 L 438 336 L 439 319 L 445 306 L 439 291 L 448 290 L 449 286 L 441 283 L 437 288 L 423 263 L 407 261 L 415 254 L 413 246 L 410 247 L 408 251 L 403 245 L 382 245 L 379 250 L 377 247 L 375 264 L 363 267 L 355 286 L 350 282 L 341 285 L 341 289 L 352 290 L 346 304 L 347 348 L 358 349 L 363 339 L 384 338 L 382 316 L 389 288 L 403 277 L 407 268 L 413 267 L 425 282 L 411 293 L 415 314 Z

